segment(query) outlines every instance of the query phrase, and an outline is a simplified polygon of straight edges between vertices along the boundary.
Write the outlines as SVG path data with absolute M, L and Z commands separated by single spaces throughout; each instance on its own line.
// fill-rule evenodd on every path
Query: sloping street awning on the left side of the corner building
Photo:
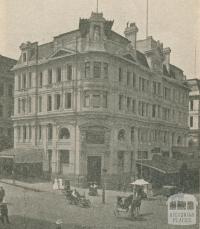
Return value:
M 0 152 L 0 158 L 13 158 L 15 163 L 42 163 L 43 150 L 36 148 L 16 148 Z

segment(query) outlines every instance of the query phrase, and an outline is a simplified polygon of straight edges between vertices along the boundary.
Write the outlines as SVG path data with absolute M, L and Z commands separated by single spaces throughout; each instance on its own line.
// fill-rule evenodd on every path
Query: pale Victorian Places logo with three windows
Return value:
M 178 193 L 170 196 L 167 200 L 168 224 L 195 225 L 197 205 L 193 195 Z

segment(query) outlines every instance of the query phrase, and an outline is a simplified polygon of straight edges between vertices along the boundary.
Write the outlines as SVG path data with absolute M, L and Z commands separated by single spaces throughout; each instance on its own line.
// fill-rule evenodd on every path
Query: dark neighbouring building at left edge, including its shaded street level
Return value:
M 14 73 L 16 60 L 0 55 L 0 151 L 13 147 Z M 7 174 L 10 160 L 0 156 L 0 174 Z

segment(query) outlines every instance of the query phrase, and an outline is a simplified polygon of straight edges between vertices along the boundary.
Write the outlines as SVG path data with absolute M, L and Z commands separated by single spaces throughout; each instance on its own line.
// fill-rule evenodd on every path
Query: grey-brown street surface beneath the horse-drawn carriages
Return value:
M 59 192 L 33 192 L 12 185 L 0 184 L 6 190 L 10 225 L 0 228 L 10 229 L 55 229 L 57 219 L 62 219 L 62 229 L 179 229 L 167 225 L 166 202 L 143 201 L 141 217 L 131 221 L 126 215 L 116 218 L 113 209 L 116 194 L 106 196 L 102 204 L 101 196 L 89 197 L 89 209 L 69 205 Z M 182 227 L 181 227 L 182 228 Z M 187 227 L 187 229 L 197 227 Z

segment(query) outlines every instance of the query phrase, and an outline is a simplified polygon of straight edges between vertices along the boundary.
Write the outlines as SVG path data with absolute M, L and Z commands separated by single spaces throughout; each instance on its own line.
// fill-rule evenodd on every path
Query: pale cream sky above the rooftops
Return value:
M 147 0 L 99 0 L 99 12 L 123 35 L 135 22 L 145 38 Z M 78 28 L 96 11 L 97 0 L 0 0 L 0 54 L 19 58 L 22 42 L 43 44 Z M 149 34 L 170 47 L 171 63 L 187 78 L 200 78 L 200 0 L 149 0 Z M 196 50 L 196 64 L 195 64 Z M 196 68 L 195 68 L 196 65 Z

